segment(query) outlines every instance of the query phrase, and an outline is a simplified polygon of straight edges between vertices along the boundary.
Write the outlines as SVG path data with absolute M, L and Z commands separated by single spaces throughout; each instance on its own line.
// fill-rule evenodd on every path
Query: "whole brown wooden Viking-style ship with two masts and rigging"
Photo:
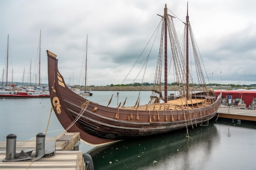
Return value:
M 221 94 L 216 97 L 214 91 L 207 88 L 196 56 L 194 56 L 196 58 L 195 66 L 200 84 L 197 88 L 193 87 L 193 79 L 189 73 L 189 45 L 187 42 L 189 35 L 192 34 L 189 31 L 191 26 L 188 11 L 186 22 L 184 22 L 185 50 L 181 50 L 177 43 L 179 41 L 177 41 L 173 24 L 174 17 L 168 15 L 167 11 L 165 4 L 164 15 L 160 15 L 162 34 L 154 89 L 152 89 L 151 99 L 146 105 L 140 106 L 138 97 L 135 106 L 119 104 L 114 108 L 97 104 L 77 95 L 67 87 L 63 76 L 58 71 L 57 55 L 47 50 L 52 108 L 67 132 L 80 132 L 81 139 L 94 146 L 123 139 L 157 135 L 182 128 L 186 129 L 186 137 L 189 137 L 189 127 L 195 128 L 200 124 L 206 124 L 216 115 L 220 107 Z M 179 96 L 174 98 L 168 97 L 167 94 L 167 36 L 171 42 L 176 86 L 179 88 Z M 164 54 L 164 96 L 161 95 L 162 54 Z M 179 54 L 182 56 L 178 56 Z

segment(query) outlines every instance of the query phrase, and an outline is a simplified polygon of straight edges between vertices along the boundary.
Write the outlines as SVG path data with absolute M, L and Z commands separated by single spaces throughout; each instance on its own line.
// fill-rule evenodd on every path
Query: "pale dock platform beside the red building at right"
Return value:
M 256 110 L 239 106 L 221 106 L 215 117 L 256 121 Z

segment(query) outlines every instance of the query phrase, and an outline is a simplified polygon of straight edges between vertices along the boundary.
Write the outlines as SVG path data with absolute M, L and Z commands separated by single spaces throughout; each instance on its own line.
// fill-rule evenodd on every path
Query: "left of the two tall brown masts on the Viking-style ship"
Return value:
M 168 101 L 167 95 L 167 5 L 164 8 L 164 103 Z M 161 83 L 161 82 L 160 82 Z

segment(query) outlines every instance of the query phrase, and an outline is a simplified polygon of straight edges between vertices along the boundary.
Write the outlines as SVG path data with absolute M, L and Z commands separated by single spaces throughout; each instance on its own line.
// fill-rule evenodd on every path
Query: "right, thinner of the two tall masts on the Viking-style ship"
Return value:
M 189 99 L 189 6 L 186 13 L 186 98 Z

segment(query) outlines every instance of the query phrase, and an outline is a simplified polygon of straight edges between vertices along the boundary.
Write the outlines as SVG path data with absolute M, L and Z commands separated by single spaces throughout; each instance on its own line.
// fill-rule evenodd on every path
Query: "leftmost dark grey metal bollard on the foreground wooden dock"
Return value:
M 6 158 L 5 161 L 14 160 L 16 155 L 16 138 L 14 134 L 9 134 L 6 137 Z

